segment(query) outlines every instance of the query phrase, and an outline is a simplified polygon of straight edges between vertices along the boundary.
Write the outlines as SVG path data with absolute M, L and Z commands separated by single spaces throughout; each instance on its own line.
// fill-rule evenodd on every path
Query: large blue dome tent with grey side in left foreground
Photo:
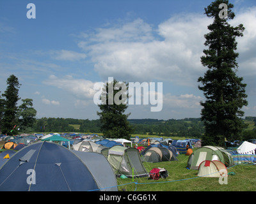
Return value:
M 0 168 L 0 191 L 92 191 L 102 187 L 103 191 L 117 190 L 115 174 L 104 156 L 76 154 L 53 142 L 28 145 Z

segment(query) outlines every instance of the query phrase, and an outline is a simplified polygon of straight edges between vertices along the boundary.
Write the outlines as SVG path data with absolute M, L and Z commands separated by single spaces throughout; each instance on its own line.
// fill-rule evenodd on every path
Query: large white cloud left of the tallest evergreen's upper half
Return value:
M 95 71 L 102 78 L 167 80 L 189 85 L 197 77 L 195 71 L 202 68 L 200 55 L 209 22 L 202 15 L 180 16 L 180 20 L 173 17 L 159 25 L 156 36 L 154 29 L 139 18 L 97 29 L 95 36 L 81 41 L 79 47 L 89 50 Z M 138 25 L 142 28 L 138 29 Z

